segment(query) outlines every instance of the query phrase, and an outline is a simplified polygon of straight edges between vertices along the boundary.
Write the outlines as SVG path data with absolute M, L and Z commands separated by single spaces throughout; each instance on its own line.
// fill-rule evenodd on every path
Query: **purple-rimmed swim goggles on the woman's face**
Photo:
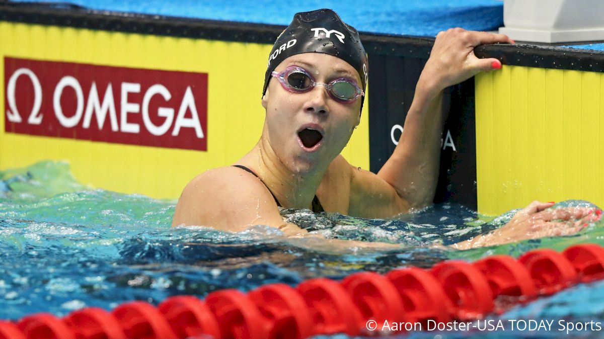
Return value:
M 281 86 L 289 92 L 304 93 L 321 85 L 327 89 L 329 96 L 340 103 L 352 103 L 361 95 L 365 95 L 355 80 L 337 78 L 329 83 L 318 83 L 306 69 L 299 66 L 289 66 L 281 72 L 272 71 L 271 75 L 279 80 Z

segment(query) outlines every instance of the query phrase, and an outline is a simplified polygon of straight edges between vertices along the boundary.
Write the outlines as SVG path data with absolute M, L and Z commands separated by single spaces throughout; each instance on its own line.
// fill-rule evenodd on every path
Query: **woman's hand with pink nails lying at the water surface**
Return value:
M 469 241 L 459 242 L 452 247 L 472 249 L 544 236 L 573 235 L 602 218 L 601 209 L 584 207 L 550 209 L 553 205 L 553 202 L 533 201 L 526 208 L 516 212 L 512 220 L 500 229 Z

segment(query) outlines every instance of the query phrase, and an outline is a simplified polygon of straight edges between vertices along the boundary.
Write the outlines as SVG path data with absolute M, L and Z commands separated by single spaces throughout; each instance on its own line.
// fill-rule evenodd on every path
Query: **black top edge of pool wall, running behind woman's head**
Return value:
M 0 21 L 153 34 L 194 39 L 272 44 L 284 26 L 215 21 L 148 14 L 89 10 L 65 3 L 2 2 Z M 368 54 L 426 59 L 433 37 L 361 33 Z M 553 45 L 483 45 L 480 58 L 495 57 L 504 65 L 604 72 L 604 52 Z

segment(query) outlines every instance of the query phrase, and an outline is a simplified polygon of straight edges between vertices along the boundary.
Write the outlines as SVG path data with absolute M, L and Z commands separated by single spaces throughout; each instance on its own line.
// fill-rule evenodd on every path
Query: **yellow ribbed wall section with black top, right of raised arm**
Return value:
M 604 54 L 490 46 L 501 71 L 476 79 L 478 210 L 532 200 L 604 204 Z

